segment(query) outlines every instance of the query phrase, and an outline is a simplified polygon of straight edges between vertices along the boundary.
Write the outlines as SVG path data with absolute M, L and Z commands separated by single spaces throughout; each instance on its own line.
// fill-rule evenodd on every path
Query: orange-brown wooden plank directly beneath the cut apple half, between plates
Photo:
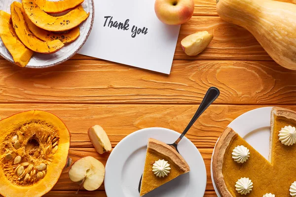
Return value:
M 213 184 L 211 181 L 211 157 L 213 149 L 206 149 L 206 148 L 200 148 L 199 149 L 205 165 L 207 169 L 207 187 L 206 190 L 213 191 Z M 107 159 L 109 157 L 109 153 L 105 153 L 103 155 L 100 155 L 96 152 L 94 148 L 71 148 L 69 152 L 69 157 L 73 160 L 73 162 L 77 161 L 78 159 L 86 156 L 92 156 L 99 161 L 101 161 L 104 165 L 106 165 Z M 77 191 L 79 188 L 79 185 L 72 182 L 69 179 L 68 176 L 69 168 L 65 169 L 57 182 L 57 184 L 53 187 L 52 190 L 69 190 L 69 191 Z M 82 189 L 83 191 L 84 189 Z M 105 187 L 104 184 L 98 189 L 98 191 L 104 191 Z

